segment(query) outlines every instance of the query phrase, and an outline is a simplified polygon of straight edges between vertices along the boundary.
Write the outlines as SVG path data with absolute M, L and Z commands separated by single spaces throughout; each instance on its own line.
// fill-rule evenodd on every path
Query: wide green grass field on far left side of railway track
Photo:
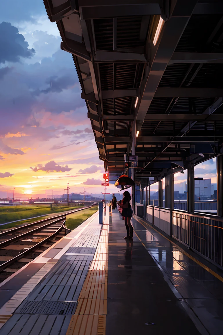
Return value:
M 67 210 L 73 210 L 79 208 L 81 206 L 53 206 L 52 209 L 50 206 L 33 206 L 33 205 L 26 205 L 26 206 L 4 206 L 0 207 L 0 224 L 5 222 L 11 222 L 21 219 L 27 219 L 34 216 L 52 214 L 52 213 L 60 213 Z M 33 219 L 33 221 L 41 220 L 41 217 L 38 219 Z M 30 221 L 30 220 L 29 220 Z M 10 227 L 15 227 L 15 225 L 24 223 L 23 221 L 18 223 L 13 223 L 11 226 L 10 224 L 0 226 L 0 229 L 6 229 Z

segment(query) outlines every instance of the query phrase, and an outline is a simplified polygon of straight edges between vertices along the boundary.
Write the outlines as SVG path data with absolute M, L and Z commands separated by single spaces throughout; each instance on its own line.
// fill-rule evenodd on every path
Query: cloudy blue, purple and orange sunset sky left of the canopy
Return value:
M 0 197 L 63 194 L 68 180 L 70 192 L 103 192 L 73 58 L 42 0 L 1 0 L 0 42 Z

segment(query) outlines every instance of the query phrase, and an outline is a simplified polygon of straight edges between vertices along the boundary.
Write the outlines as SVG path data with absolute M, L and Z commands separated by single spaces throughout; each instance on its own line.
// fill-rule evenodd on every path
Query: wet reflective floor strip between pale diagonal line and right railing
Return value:
M 211 335 L 223 331 L 223 282 L 183 254 L 149 226 L 135 219 L 133 226 L 148 253 L 169 277 L 175 288 Z M 144 230 L 143 230 L 143 228 Z

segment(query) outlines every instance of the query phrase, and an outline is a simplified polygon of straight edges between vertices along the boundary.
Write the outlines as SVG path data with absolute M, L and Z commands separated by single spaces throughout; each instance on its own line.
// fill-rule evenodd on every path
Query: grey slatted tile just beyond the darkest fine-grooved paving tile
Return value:
M 75 302 L 78 300 L 81 288 L 82 285 L 37 285 L 26 300 Z

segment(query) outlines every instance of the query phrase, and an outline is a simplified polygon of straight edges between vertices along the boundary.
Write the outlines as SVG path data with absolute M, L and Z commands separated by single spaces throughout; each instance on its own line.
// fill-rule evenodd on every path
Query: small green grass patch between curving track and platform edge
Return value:
M 66 227 L 71 230 L 77 228 L 81 223 L 97 212 L 97 210 L 98 206 L 92 206 L 91 208 L 84 209 L 81 212 L 67 215 L 65 223 Z

